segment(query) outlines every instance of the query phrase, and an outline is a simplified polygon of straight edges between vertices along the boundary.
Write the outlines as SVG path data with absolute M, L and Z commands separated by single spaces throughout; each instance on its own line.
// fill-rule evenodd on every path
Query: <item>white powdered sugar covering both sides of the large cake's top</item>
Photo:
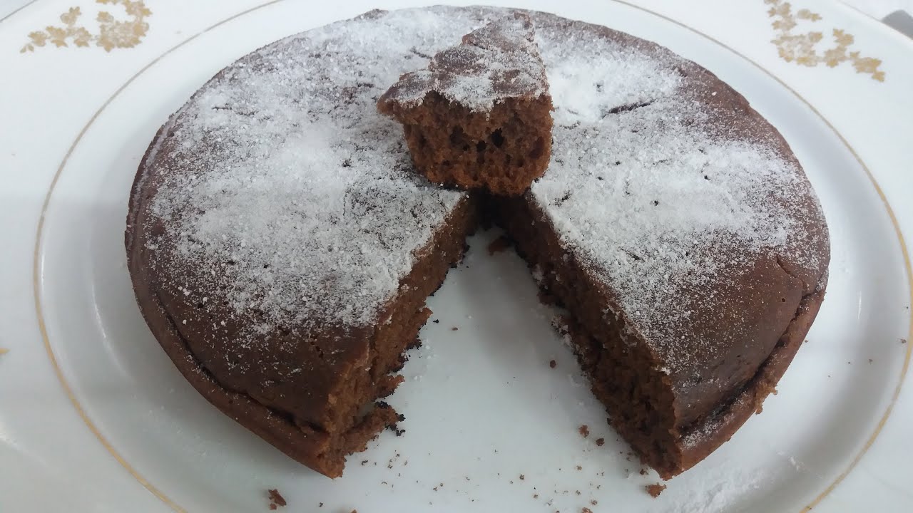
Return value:
M 241 344 L 282 326 L 379 320 L 465 194 L 413 173 L 401 127 L 376 101 L 407 71 L 434 73 L 427 56 L 479 28 L 457 48 L 524 47 L 508 52 L 524 59 L 539 48 L 555 125 L 530 198 L 611 292 L 606 315 L 624 315 L 669 372 L 697 365 L 696 347 L 731 342 L 694 337 L 693 326 L 723 319 L 731 296 L 719 291 L 754 262 L 775 258 L 812 288 L 824 276 L 828 241 L 811 186 L 731 89 L 641 39 L 510 13 L 373 12 L 226 68 L 168 121 L 141 168 L 138 192 L 151 194 L 141 221 L 163 287 L 247 319 Z M 539 80 L 530 75 L 532 87 L 544 88 Z M 499 98 L 445 89 L 479 109 Z

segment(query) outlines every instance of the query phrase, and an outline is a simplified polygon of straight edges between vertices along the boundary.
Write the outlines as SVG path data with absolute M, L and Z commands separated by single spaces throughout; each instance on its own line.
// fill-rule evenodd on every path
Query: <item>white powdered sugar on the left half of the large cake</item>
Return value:
M 229 306 L 253 335 L 378 320 L 465 194 L 412 173 L 401 127 L 374 104 L 425 66 L 420 55 L 482 23 L 450 9 L 367 16 L 226 68 L 149 159 L 158 192 L 147 233 L 164 229 L 147 249 L 173 279 L 163 286 Z

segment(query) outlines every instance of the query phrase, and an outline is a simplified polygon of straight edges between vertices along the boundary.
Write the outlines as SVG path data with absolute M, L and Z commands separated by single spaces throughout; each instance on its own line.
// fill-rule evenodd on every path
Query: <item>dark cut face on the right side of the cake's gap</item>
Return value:
M 661 363 L 625 328 L 624 319 L 606 315 L 593 277 L 576 257 L 564 257 L 540 212 L 522 199 L 497 205 L 498 225 L 539 277 L 542 298 L 566 309 L 555 329 L 570 343 L 610 424 L 660 476 L 681 472 L 672 382 Z

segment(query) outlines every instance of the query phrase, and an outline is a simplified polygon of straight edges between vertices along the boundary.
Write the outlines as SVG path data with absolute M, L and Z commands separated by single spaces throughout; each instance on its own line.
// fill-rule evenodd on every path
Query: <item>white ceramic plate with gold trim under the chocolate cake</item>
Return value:
M 54 22 L 47 13 L 66 10 L 49 4 L 3 22 L 0 47 L 16 37 L 25 44 L 26 27 Z M 99 8 L 84 4 L 87 12 Z M 571 351 L 551 330 L 553 312 L 538 302 L 525 265 L 512 252 L 489 256 L 485 248 L 496 234 L 483 233 L 429 300 L 439 323 L 425 326 L 424 345 L 404 368 L 407 381 L 390 398 L 406 415 L 406 433 L 383 433 L 334 481 L 295 464 L 206 403 L 152 338 L 125 267 L 127 196 L 154 132 L 216 71 L 279 37 L 378 3 L 289 1 L 247 12 L 240 4 L 208 5 L 181 16 L 147 4 L 154 13 L 148 23 L 162 23 L 168 37 L 150 31 L 136 48 L 110 54 L 47 47 L 0 53 L 0 69 L 21 78 L 0 85 L 7 114 L 0 119 L 0 164 L 45 177 L 10 173 L 0 211 L 9 231 L 10 283 L 35 278 L 34 298 L 32 288 L 0 292 L 0 305 L 8 307 L 0 326 L 21 333 L 16 340 L 0 335 L 0 347 L 11 350 L 0 356 L 0 510 L 117 511 L 129 504 L 142 511 L 262 511 L 266 490 L 278 488 L 289 511 L 320 504 L 362 513 L 799 511 L 830 488 L 865 489 L 844 474 L 858 473 L 873 440 L 893 436 L 883 429 L 892 404 L 894 416 L 911 418 L 910 402 L 897 403 L 896 395 L 909 351 L 901 340 L 910 328 L 897 219 L 828 121 L 763 68 L 669 19 L 610 2 L 516 0 L 509 4 L 670 47 L 740 90 L 782 131 L 824 204 L 833 240 L 827 298 L 808 343 L 763 414 L 651 498 L 644 487 L 657 483 L 656 475 L 642 475 L 607 426 Z M 47 57 L 61 51 L 82 53 Z M 111 62 L 82 76 L 79 67 L 93 66 L 89 51 Z M 139 63 L 122 57 L 132 51 L 144 52 Z M 52 70 L 31 68 L 37 64 Z M 41 94 L 66 94 L 63 84 L 48 84 L 54 76 L 79 83 L 68 101 L 57 102 L 58 124 L 38 115 Z M 37 231 L 25 222 L 32 218 L 40 220 Z M 913 219 L 901 215 L 900 222 Z M 16 316 L 29 308 L 34 317 Z M 588 438 L 578 432 L 582 424 Z M 597 446 L 597 438 L 605 444 Z M 899 465 L 888 470 L 895 482 L 913 477 Z M 56 497 L 36 497 L 37 490 Z M 913 508 L 891 482 L 868 488 L 875 492 L 887 494 L 887 510 Z M 825 497 L 822 506 L 843 511 L 850 502 Z

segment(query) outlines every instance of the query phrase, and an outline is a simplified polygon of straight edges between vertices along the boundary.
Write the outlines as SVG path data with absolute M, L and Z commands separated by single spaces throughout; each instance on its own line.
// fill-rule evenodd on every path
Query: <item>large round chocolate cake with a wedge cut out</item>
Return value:
M 126 247 L 153 335 L 211 403 L 326 476 L 397 422 L 379 398 L 479 219 L 567 309 L 593 393 L 664 478 L 760 411 L 824 298 L 824 215 L 779 132 L 706 69 L 603 26 L 524 12 L 554 108 L 526 194 L 415 173 L 378 99 L 515 12 L 373 11 L 261 48 L 136 174 Z

